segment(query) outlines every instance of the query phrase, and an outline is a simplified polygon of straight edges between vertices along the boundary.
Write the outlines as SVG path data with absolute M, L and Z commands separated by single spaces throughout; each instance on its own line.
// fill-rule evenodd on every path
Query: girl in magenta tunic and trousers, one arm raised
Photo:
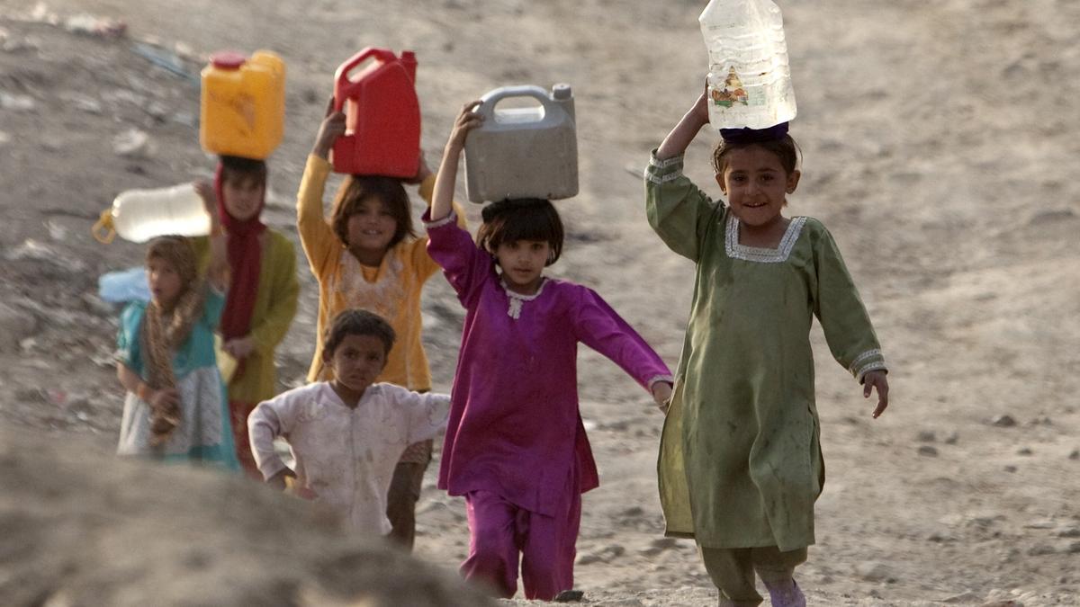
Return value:
M 578 343 L 658 403 L 672 377 L 595 292 L 543 275 L 563 249 L 550 201 L 486 206 L 476 243 L 455 222 L 450 199 L 477 105 L 455 122 L 427 221 L 428 251 L 467 310 L 438 486 L 465 498 L 465 579 L 513 596 L 521 558 L 525 596 L 550 601 L 573 585 L 581 494 L 599 484 L 578 409 Z

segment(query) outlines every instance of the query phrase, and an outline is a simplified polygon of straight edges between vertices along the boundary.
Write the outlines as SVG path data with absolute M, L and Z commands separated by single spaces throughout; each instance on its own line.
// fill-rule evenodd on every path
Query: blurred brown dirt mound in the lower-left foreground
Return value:
M 4 605 L 495 604 L 238 476 L 118 460 L 86 436 L 0 436 Z

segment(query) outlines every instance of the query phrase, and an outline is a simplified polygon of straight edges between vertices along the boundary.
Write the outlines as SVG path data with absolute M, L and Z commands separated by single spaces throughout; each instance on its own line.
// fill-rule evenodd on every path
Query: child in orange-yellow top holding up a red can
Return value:
M 438 265 L 428 255 L 426 238 L 416 238 L 408 194 L 400 179 L 348 175 L 341 181 L 329 219 L 323 216 L 323 190 L 330 172 L 327 158 L 334 141 L 345 134 L 346 118 L 326 108 L 308 157 L 297 194 L 297 230 L 311 271 L 319 281 L 315 354 L 308 381 L 334 378 L 323 355 L 323 333 L 340 311 L 360 308 L 375 312 L 394 328 L 397 339 L 379 381 L 410 390 L 431 389 L 431 370 L 420 339 L 420 294 Z M 411 183 L 431 200 L 435 178 L 420 161 Z M 411 550 L 416 532 L 416 501 L 423 472 L 431 460 L 430 441 L 411 445 L 394 470 L 388 512 L 391 539 Z

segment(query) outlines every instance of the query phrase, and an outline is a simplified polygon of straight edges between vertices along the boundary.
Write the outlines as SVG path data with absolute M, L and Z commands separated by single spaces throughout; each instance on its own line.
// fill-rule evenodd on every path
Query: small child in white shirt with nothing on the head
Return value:
M 252 450 L 268 483 L 297 480 L 305 495 L 341 513 L 361 532 L 386 536 L 387 491 L 402 451 L 446 426 L 445 394 L 375 383 L 387 365 L 394 329 L 364 310 L 346 310 L 326 329 L 326 366 L 334 379 L 316 381 L 259 404 L 248 418 Z M 296 470 L 273 447 L 283 436 Z

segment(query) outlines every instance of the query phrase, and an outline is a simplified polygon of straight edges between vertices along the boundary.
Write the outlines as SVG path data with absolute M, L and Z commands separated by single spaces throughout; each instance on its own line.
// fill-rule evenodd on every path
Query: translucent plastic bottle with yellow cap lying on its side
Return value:
M 112 201 L 112 208 L 94 225 L 94 238 L 108 243 L 116 234 L 132 242 L 177 234 L 210 233 L 210 215 L 191 184 L 152 190 L 127 190 Z

